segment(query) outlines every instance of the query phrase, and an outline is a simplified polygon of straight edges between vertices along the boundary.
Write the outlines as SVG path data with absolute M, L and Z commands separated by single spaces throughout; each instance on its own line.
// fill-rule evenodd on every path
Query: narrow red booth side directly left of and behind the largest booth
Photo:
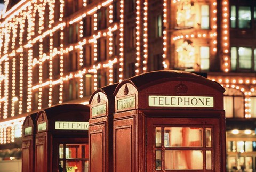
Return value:
M 97 89 L 90 98 L 90 171 L 113 171 L 113 113 L 116 84 Z

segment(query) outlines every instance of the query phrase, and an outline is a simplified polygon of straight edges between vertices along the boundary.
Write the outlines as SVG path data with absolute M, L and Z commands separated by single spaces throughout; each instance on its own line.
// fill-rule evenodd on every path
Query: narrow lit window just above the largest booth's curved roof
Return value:
M 200 68 L 201 70 L 209 70 L 210 62 L 210 47 L 201 46 L 200 47 Z

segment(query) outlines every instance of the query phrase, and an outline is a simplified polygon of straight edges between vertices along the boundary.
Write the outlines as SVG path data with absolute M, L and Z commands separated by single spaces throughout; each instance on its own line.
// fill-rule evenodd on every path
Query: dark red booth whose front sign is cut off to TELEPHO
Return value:
M 35 172 L 88 171 L 88 120 L 82 104 L 62 104 L 38 112 Z

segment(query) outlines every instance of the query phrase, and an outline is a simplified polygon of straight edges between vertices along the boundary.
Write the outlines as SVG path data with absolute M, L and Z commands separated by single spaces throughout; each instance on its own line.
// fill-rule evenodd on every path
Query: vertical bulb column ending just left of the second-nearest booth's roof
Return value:
M 80 26 L 79 26 L 79 37 L 80 39 L 83 38 L 83 21 L 81 20 L 79 22 Z M 79 66 L 80 66 L 80 69 L 83 68 L 83 65 L 84 65 L 85 61 L 83 61 L 83 46 L 81 45 L 79 47 Z M 81 74 L 80 75 L 80 79 L 79 79 L 79 97 L 80 98 L 83 98 L 83 75 Z

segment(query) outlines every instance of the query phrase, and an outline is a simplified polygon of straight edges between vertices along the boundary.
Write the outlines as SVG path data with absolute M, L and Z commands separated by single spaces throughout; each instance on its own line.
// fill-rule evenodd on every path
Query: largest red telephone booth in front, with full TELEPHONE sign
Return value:
M 156 71 L 116 88 L 113 171 L 226 171 L 225 89 L 202 76 Z

